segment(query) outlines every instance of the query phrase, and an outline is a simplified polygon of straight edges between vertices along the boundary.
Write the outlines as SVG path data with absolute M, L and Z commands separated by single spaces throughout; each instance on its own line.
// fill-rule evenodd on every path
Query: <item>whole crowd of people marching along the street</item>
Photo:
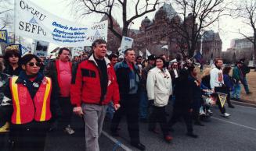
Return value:
M 202 121 L 213 114 L 212 105 L 227 118 L 225 100 L 234 108 L 230 100 L 240 99 L 240 83 L 251 93 L 246 79 L 250 69 L 244 59 L 232 68 L 216 58 L 200 77 L 197 65 L 189 59 L 168 61 L 164 54 L 152 54 L 144 60 L 136 57 L 132 48 L 124 55 L 106 56 L 106 49 L 105 40 L 95 40 L 91 54 L 72 60 L 67 47 L 60 48 L 55 59 L 34 54 L 21 57 L 17 50 L 6 50 L 0 60 L 1 146 L 44 150 L 48 132 L 76 132 L 71 117 L 77 114 L 85 123 L 86 150 L 99 150 L 105 116 L 111 121 L 114 137 L 119 136 L 119 124 L 125 116 L 131 145 L 145 150 L 139 138 L 139 121 L 147 123 L 153 133 L 159 133 L 159 123 L 164 141 L 171 142 L 173 125 L 183 119 L 186 135 L 197 138 L 193 125 L 204 126 Z M 168 104 L 172 105 L 171 117 Z

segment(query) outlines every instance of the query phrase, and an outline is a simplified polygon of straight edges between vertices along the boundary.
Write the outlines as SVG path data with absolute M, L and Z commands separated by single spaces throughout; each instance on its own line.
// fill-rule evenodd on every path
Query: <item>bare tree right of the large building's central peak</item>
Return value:
M 193 57 L 202 33 L 208 27 L 218 22 L 225 12 L 229 2 L 225 0 L 174 0 L 176 11 L 182 16 L 182 23 L 176 32 L 182 37 L 182 46 L 186 47 L 189 58 Z

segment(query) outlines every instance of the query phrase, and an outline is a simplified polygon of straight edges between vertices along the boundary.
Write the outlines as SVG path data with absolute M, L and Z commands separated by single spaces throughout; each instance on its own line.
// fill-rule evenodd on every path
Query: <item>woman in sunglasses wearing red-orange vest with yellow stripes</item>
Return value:
M 5 97 L 13 102 L 11 139 L 13 150 L 44 150 L 49 120 L 59 110 L 49 77 L 39 72 L 40 60 L 34 54 L 21 58 L 23 71 L 9 80 Z

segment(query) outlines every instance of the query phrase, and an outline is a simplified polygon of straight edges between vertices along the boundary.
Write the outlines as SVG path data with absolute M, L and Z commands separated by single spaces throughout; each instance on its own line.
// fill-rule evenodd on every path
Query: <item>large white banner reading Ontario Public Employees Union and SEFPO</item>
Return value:
M 67 47 L 90 46 L 99 38 L 107 41 L 107 20 L 93 26 L 79 25 L 54 16 L 28 0 L 15 1 L 15 32 L 20 36 Z

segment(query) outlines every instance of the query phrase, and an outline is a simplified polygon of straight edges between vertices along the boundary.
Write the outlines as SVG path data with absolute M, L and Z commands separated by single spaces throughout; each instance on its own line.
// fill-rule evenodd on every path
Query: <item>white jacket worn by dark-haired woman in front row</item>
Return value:
M 172 94 L 171 75 L 167 69 L 152 68 L 146 79 L 146 90 L 149 100 L 154 100 L 154 105 L 164 107 L 168 104 Z

